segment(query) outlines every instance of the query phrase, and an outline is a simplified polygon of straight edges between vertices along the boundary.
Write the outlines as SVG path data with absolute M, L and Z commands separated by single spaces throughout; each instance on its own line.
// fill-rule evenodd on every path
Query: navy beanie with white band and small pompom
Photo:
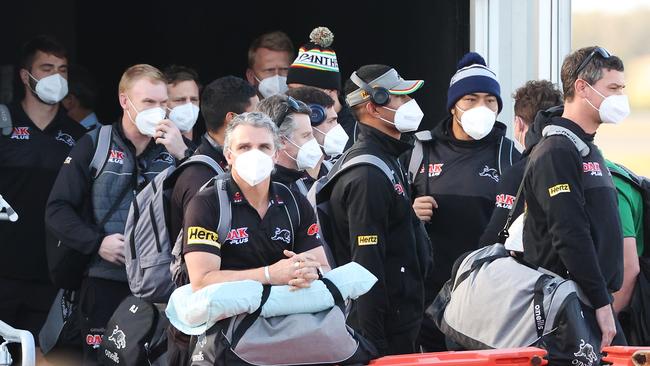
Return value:
M 463 56 L 454 76 L 449 82 L 447 91 L 447 110 L 450 111 L 463 96 L 471 93 L 489 93 L 497 97 L 499 112 L 503 109 L 501 101 L 501 86 L 494 71 L 488 69 L 485 60 L 476 52 L 468 52 Z

